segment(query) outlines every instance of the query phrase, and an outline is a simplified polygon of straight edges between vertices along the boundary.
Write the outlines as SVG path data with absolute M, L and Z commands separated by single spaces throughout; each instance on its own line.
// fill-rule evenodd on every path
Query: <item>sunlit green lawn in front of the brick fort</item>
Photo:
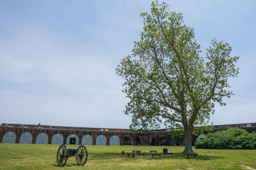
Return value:
M 70 157 L 64 167 L 58 167 L 56 154 L 60 145 L 0 144 L 0 170 L 251 170 L 256 169 L 256 150 L 206 150 L 194 149 L 197 158 L 187 159 L 184 147 L 160 146 L 86 146 L 88 159 L 84 166 Z M 77 148 L 77 145 L 67 145 Z M 168 148 L 174 156 L 151 158 L 149 150 L 163 152 Z M 134 158 L 121 155 L 122 150 L 142 150 L 145 156 Z

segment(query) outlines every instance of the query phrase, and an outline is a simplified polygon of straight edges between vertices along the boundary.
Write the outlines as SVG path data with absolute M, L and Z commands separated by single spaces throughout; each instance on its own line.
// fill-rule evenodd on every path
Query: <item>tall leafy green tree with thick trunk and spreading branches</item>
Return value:
M 194 29 L 167 7 L 153 2 L 151 14 L 141 14 L 141 39 L 116 73 L 125 79 L 123 92 L 130 98 L 125 109 L 132 114 L 130 128 L 183 127 L 183 152 L 193 153 L 194 126 L 209 122 L 215 103 L 226 105 L 223 97 L 233 94 L 227 81 L 237 76 L 239 57 L 230 57 L 230 45 L 215 39 L 201 57 Z

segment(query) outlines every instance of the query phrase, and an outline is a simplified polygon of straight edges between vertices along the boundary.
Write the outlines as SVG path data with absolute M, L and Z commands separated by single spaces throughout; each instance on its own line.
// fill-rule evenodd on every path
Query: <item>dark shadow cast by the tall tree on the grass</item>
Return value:
M 187 155 L 185 153 L 174 153 L 173 156 L 167 155 L 164 156 L 163 153 L 161 154 L 160 159 L 188 159 Z M 127 153 L 125 155 L 122 155 L 121 153 L 91 153 L 88 154 L 88 159 L 94 159 L 94 160 L 107 160 L 107 159 L 152 159 L 151 153 L 145 153 L 145 156 L 139 156 L 137 153 L 134 154 L 134 158 L 130 155 L 130 157 L 127 156 Z M 159 156 L 154 156 L 153 159 L 159 159 Z M 198 153 L 198 156 L 194 158 L 194 156 L 189 156 L 189 159 L 197 159 L 197 160 L 215 160 L 215 159 L 224 159 L 224 157 L 221 157 L 219 155 L 216 156 L 209 156 L 209 155 L 201 155 Z M 188 160 L 189 160 L 188 159 Z

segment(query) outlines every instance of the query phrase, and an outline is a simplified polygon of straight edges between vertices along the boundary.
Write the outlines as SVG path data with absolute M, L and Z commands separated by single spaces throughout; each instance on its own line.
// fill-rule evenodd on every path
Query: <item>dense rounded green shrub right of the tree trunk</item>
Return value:
M 248 133 L 239 128 L 229 128 L 216 133 L 208 133 L 195 142 L 197 149 L 256 149 L 256 133 Z

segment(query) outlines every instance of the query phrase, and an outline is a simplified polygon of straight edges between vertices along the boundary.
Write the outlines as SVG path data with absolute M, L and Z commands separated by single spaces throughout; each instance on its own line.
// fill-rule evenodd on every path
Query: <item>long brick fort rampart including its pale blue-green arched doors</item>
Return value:
M 249 133 L 256 123 L 215 125 L 212 132 L 238 127 Z M 192 137 L 192 145 L 198 136 Z M 1 143 L 85 144 L 85 145 L 183 145 L 183 138 L 174 138 L 168 129 L 130 133 L 129 129 L 61 127 L 47 125 L 2 124 Z

